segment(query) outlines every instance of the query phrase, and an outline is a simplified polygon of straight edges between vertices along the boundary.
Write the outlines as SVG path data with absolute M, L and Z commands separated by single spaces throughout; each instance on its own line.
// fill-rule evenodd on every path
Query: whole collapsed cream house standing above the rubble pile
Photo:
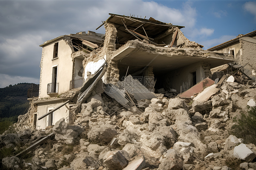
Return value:
M 183 26 L 154 18 L 110 14 L 103 25 L 105 35 L 80 32 L 40 45 L 43 50 L 39 100 L 34 102 L 38 110 L 33 118 L 37 129 L 54 125 L 62 117 L 68 122 L 70 107 L 76 101 L 58 97 L 82 87 L 84 80 L 102 64 L 107 64 L 102 76 L 105 84 L 117 85 L 130 74 L 152 92 L 178 94 L 211 77 L 211 68 L 234 60 L 232 55 L 202 50 L 202 45 L 184 36 L 180 30 Z M 46 114 L 62 104 L 66 107 Z

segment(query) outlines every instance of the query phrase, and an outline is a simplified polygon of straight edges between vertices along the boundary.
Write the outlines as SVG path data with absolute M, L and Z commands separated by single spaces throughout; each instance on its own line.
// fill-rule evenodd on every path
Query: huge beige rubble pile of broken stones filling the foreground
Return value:
M 232 78 L 232 77 L 231 77 Z M 105 93 L 90 96 L 76 106 L 71 125 L 60 119 L 46 131 L 22 128 L 19 116 L 13 133 L 1 135 L 5 148 L 25 149 L 42 137 L 54 138 L 30 152 L 2 159 L 6 169 L 61 170 L 228 170 L 229 161 L 241 161 L 241 169 L 256 168 L 256 147 L 229 134 L 233 118 L 255 106 L 256 82 L 230 82 L 230 76 L 214 93 L 202 98 L 156 97 L 122 107 Z M 102 82 L 99 82 L 102 83 Z M 210 86 L 211 87 L 211 86 Z M 210 88 L 209 87 L 209 88 Z M 204 89 L 204 91 L 207 88 Z M 204 93 L 201 92 L 201 93 Z M 72 92 L 74 93 L 74 92 Z M 138 107 L 136 107 L 136 105 Z M 28 114 L 28 113 L 27 113 Z M 25 130 L 24 130 L 25 129 Z M 24 147 L 25 146 L 25 147 Z M 28 154 L 28 153 L 27 153 Z

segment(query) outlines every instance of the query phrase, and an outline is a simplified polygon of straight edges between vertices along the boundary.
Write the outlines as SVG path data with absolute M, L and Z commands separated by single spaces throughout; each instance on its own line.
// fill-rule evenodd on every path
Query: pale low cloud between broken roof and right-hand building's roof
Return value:
M 230 39 L 234 39 L 236 36 L 232 36 L 232 35 L 224 35 L 221 36 L 219 38 L 215 38 L 215 39 L 209 39 L 207 41 L 202 41 L 199 42 L 199 44 L 204 45 L 204 50 L 207 50 L 211 47 L 214 47 L 216 45 L 222 44 L 223 42 L 229 41 Z

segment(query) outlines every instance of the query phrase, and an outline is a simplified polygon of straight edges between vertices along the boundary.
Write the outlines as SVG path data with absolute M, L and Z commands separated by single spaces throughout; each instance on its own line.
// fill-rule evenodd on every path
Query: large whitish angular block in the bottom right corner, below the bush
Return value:
M 242 159 L 246 162 L 252 162 L 256 157 L 255 153 L 252 152 L 245 144 L 241 143 L 240 145 L 234 148 L 234 156 L 238 159 Z

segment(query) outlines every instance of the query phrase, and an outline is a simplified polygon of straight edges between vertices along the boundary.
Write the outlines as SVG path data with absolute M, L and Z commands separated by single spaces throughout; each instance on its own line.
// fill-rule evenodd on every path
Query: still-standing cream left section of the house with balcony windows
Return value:
M 43 49 L 40 62 L 39 99 L 34 102 L 38 105 L 38 111 L 34 116 L 40 117 L 64 103 L 67 99 L 57 96 L 82 86 L 84 82 L 82 62 L 85 56 L 82 54 L 88 54 L 98 48 L 98 45 L 104 42 L 103 38 L 104 34 L 88 31 L 88 34 L 80 32 L 59 36 L 40 45 Z M 69 102 L 67 107 L 70 104 L 74 103 Z M 34 125 L 37 129 L 45 129 L 49 125 L 54 125 L 62 117 L 65 117 L 68 122 L 69 114 L 68 108 L 62 107 L 38 120 Z

